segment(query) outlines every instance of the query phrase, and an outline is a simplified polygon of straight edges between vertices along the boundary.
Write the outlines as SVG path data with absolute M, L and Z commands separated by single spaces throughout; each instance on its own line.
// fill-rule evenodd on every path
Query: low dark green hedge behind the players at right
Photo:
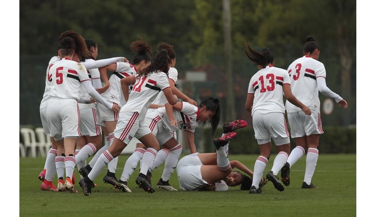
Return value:
M 356 153 L 356 128 L 349 127 L 323 127 L 324 134 L 320 136 L 318 150 L 320 153 Z M 230 142 L 231 154 L 258 154 L 259 147 L 255 139 L 252 127 L 246 127 L 236 131 L 237 136 Z M 222 129 L 217 129 L 215 136 L 221 136 Z M 205 152 L 215 152 L 210 129 L 203 129 L 205 139 Z M 272 144 L 273 141 L 272 141 Z M 291 139 L 291 149 L 296 146 Z M 272 153 L 276 153 L 276 147 L 272 145 Z

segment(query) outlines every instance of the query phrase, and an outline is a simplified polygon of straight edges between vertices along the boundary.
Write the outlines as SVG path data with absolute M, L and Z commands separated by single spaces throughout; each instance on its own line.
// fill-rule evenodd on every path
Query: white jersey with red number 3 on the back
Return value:
M 309 56 L 296 59 L 288 67 L 291 77 L 291 91 L 294 96 L 314 111 L 320 111 L 320 100 L 318 99 L 317 77 L 326 77 L 324 64 Z M 301 109 L 286 101 L 288 113 L 297 112 Z

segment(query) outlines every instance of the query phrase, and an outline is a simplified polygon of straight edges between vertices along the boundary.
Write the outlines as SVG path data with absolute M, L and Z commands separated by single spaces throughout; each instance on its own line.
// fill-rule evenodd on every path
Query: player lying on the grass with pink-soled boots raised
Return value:
M 185 191 L 227 191 L 229 186 L 241 184 L 242 190 L 249 190 L 252 179 L 232 169 L 238 168 L 250 177 L 253 172 L 241 162 L 229 161 L 227 157 L 229 141 L 236 136 L 233 131 L 246 126 L 244 120 L 226 123 L 222 137 L 213 140 L 217 153 L 197 152 L 180 159 L 176 168 L 180 188 Z

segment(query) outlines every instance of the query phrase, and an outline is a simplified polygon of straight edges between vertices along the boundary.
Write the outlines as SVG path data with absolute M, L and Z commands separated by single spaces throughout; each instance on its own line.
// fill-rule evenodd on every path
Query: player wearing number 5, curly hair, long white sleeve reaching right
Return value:
M 77 191 L 71 178 L 76 165 L 74 147 L 77 137 L 80 135 L 80 114 L 77 101 L 91 102 L 91 99 L 82 100 L 79 98 L 80 86 L 83 85 L 91 97 L 114 111 L 120 111 L 120 108 L 117 105 L 106 102 L 94 90 L 85 66 L 78 63 L 79 56 L 88 53 L 82 36 L 78 33 L 72 33 L 67 37 L 62 33 L 59 36 L 59 42 L 62 59 L 56 62 L 49 70 L 49 76 L 52 81 L 49 93 L 50 99 L 47 101 L 46 119 L 50 135 L 55 138 L 58 150 L 59 147 L 64 147 L 65 155 L 67 155 L 62 155 L 66 172 L 64 187 L 66 190 L 76 193 Z

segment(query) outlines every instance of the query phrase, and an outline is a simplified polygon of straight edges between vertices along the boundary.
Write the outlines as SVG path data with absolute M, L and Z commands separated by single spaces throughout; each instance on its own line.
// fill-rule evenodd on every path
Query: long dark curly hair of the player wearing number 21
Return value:
M 157 53 L 152 64 L 144 68 L 144 70 L 140 71 L 138 75 L 144 76 L 154 71 L 157 73 L 158 71 L 162 71 L 168 75 L 168 65 L 170 64 L 170 62 L 171 59 L 167 55 L 167 50 L 162 49 Z

